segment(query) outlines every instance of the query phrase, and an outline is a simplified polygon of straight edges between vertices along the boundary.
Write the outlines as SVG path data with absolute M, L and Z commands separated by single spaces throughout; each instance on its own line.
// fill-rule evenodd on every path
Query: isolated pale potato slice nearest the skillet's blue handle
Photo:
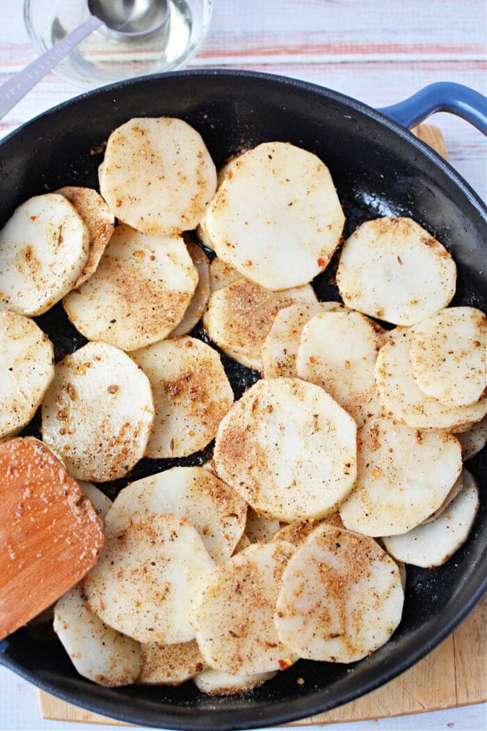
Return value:
M 345 305 L 395 325 L 414 325 L 455 294 L 456 266 L 412 219 L 366 221 L 345 242 L 337 270 Z

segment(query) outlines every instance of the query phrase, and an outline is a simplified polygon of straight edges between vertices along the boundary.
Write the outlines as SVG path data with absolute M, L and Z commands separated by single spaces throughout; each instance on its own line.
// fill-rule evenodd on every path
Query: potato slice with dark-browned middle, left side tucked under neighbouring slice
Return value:
M 131 357 L 149 379 L 156 404 L 147 456 L 185 457 L 204 449 L 234 402 L 218 352 L 185 336 L 154 343 Z

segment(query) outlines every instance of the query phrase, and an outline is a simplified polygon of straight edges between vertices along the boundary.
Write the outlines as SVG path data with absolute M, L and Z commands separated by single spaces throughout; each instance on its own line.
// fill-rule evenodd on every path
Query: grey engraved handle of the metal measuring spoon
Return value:
M 56 43 L 53 48 L 42 53 L 39 58 L 28 64 L 25 69 L 19 71 L 18 74 L 12 76 L 0 86 L 0 119 L 3 118 L 12 107 L 20 102 L 31 91 L 33 86 L 42 79 L 51 69 L 53 69 L 61 58 L 64 58 L 73 48 L 76 48 L 83 38 L 92 33 L 96 28 L 102 26 L 103 23 L 99 18 L 91 15 L 80 26 L 67 34 L 60 42 Z

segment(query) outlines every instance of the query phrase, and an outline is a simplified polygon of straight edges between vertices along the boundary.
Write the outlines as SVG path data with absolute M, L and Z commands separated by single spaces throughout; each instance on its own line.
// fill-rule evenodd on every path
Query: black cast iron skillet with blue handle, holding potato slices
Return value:
M 486 126 L 480 95 L 458 85 L 434 85 L 386 112 L 410 125 L 439 109 Z M 32 195 L 63 185 L 96 186 L 110 131 L 145 115 L 187 120 L 201 132 L 217 166 L 242 147 L 264 140 L 288 140 L 318 154 L 329 165 L 345 209 L 345 235 L 377 216 L 413 217 L 456 260 L 459 279 L 453 304 L 487 309 L 486 209 L 467 183 L 383 113 L 334 91 L 257 73 L 210 70 L 130 80 L 83 94 L 34 119 L 0 144 L 0 225 Z M 322 298 L 338 298 L 328 275 L 318 278 L 315 287 Z M 39 323 L 53 338 L 57 357 L 84 342 L 59 307 Z M 237 395 L 258 377 L 225 363 Z M 37 427 L 34 420 L 28 433 Z M 142 461 L 131 479 L 203 459 L 199 454 L 171 463 Z M 244 729 L 329 710 L 402 673 L 480 601 L 487 589 L 485 468 L 485 454 L 469 464 L 481 483 L 483 506 L 467 544 L 438 569 L 408 567 L 402 623 L 383 648 L 361 662 L 301 661 L 253 694 L 212 699 L 191 682 L 177 688 L 96 686 L 77 675 L 57 640 L 33 640 L 28 629 L 0 643 L 0 661 L 66 701 L 145 726 Z M 120 483 L 107 485 L 107 492 L 113 495 L 118 488 Z

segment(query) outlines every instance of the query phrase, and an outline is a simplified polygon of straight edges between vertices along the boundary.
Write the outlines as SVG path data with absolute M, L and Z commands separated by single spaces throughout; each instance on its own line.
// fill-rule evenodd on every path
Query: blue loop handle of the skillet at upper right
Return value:
M 449 81 L 429 84 L 403 102 L 378 111 L 408 129 L 434 112 L 450 112 L 487 136 L 487 98 L 468 86 Z

